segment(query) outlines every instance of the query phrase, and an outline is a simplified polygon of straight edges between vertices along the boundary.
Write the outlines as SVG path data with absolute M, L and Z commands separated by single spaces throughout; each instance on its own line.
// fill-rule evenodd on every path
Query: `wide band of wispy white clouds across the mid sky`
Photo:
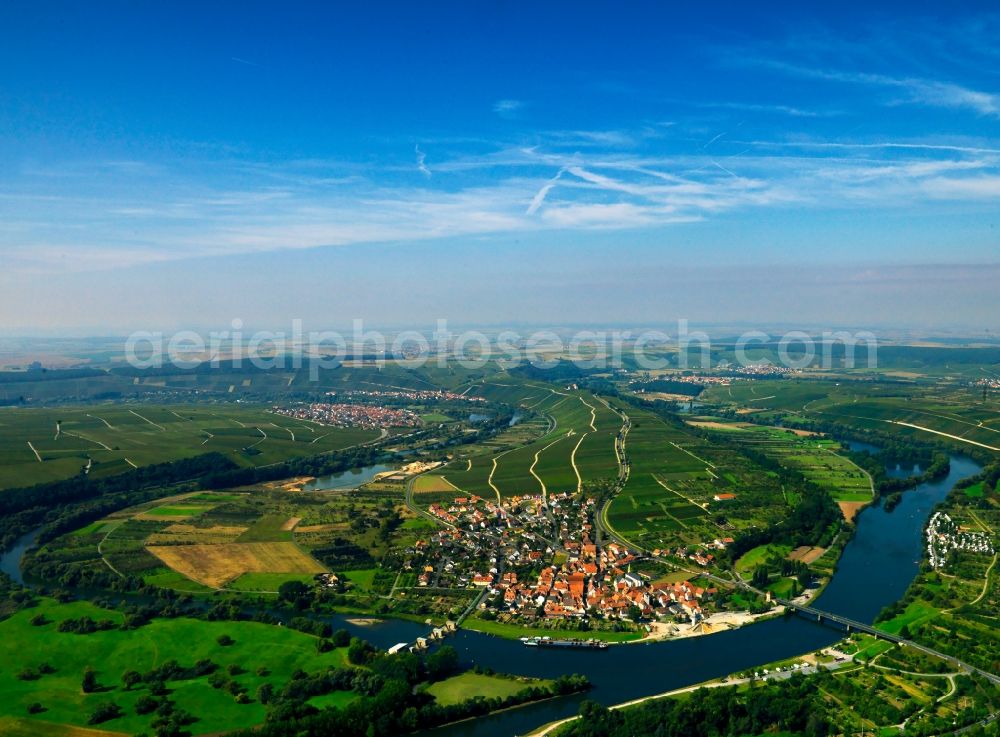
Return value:
M 913 208 L 1000 196 L 1000 149 L 962 140 L 751 140 L 720 158 L 691 139 L 683 154 L 658 139 L 622 150 L 606 133 L 581 137 L 609 141 L 583 152 L 539 143 L 441 155 L 433 179 L 415 146 L 427 177 L 420 184 L 405 160 L 371 168 L 206 160 L 185 161 L 183 170 L 96 165 L 101 174 L 83 196 L 79 177 L 58 182 L 44 173 L 58 168 L 53 162 L 0 187 L 0 259 L 10 272 L 88 271 L 546 229 L 662 228 L 792 204 Z M 73 162 L 66 169 L 86 171 Z

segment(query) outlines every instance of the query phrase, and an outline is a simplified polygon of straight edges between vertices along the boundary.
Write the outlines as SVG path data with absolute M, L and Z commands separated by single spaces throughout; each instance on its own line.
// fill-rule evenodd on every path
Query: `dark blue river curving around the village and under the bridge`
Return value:
M 952 456 L 946 477 L 904 492 L 892 512 L 881 506 L 865 509 L 857 518 L 857 531 L 844 549 L 833 579 L 815 605 L 851 619 L 872 622 L 883 607 L 902 597 L 916 575 L 922 556 L 923 526 L 931 509 L 944 499 L 956 481 L 979 470 L 975 462 Z M 20 580 L 20 559 L 37 534 L 38 531 L 25 535 L 0 556 L 0 569 Z M 403 620 L 368 626 L 359 626 L 350 617 L 338 616 L 332 621 L 335 626 L 346 626 L 353 634 L 384 648 L 397 642 L 413 642 L 426 635 L 428 629 Z M 611 705 L 651 696 L 800 655 L 830 645 L 842 636 L 834 629 L 798 616 L 703 637 L 619 645 L 603 651 L 529 648 L 517 641 L 461 630 L 449 642 L 466 663 L 542 678 L 582 673 L 594 687 L 586 694 L 531 704 L 423 734 L 427 737 L 524 734 L 547 722 L 572 716 L 585 698 Z

